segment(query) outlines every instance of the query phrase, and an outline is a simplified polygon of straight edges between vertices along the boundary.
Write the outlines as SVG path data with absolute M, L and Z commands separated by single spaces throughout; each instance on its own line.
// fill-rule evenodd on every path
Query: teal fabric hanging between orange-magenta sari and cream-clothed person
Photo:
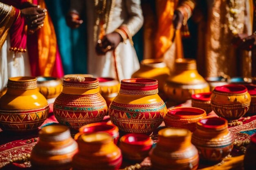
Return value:
M 65 21 L 70 0 L 45 0 L 45 2 L 54 24 L 64 73 L 87 73 L 86 22 L 84 21 L 78 29 L 70 29 Z

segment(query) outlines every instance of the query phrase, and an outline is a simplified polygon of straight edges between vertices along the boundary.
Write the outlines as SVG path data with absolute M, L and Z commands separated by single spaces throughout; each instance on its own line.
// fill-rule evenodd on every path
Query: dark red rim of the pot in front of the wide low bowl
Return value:
M 227 127 L 228 122 L 226 119 L 222 117 L 207 117 L 200 119 L 197 122 L 197 125 L 202 126 L 204 128 L 219 129 Z

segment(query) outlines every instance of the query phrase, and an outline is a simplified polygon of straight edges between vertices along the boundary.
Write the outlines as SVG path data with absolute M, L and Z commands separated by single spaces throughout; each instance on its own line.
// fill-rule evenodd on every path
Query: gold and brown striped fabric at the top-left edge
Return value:
M 0 49 L 2 48 L 9 29 L 15 20 L 14 15 L 14 7 L 0 2 Z

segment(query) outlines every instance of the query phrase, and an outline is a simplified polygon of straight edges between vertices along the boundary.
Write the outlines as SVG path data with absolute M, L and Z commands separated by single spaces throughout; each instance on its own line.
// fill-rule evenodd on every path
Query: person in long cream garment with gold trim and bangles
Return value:
M 72 0 L 67 24 L 79 27 L 83 15 L 87 18 L 88 73 L 120 81 L 130 78 L 139 69 L 132 36 L 143 24 L 140 0 Z

